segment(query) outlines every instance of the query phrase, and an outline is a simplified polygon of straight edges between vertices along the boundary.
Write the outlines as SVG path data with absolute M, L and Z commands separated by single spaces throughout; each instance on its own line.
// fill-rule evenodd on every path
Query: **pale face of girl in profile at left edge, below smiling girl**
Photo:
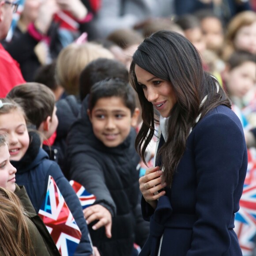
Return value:
M 8 146 L 0 147 L 0 187 L 6 188 L 11 192 L 15 191 L 16 169 L 10 163 Z

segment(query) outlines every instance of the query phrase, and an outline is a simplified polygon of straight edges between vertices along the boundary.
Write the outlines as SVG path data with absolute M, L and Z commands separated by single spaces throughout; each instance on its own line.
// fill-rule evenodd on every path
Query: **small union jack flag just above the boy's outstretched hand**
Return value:
M 83 209 L 92 205 L 95 202 L 96 196 L 87 192 L 86 189 L 80 183 L 76 181 L 69 181 L 69 183 L 75 190 L 75 193 L 78 196 Z

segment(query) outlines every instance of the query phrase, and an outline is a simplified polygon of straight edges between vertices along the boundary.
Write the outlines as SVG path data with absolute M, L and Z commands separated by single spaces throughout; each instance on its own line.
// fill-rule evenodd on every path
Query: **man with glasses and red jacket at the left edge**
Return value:
M 12 13 L 16 12 L 18 2 L 0 0 L 0 40 L 6 38 L 11 26 Z M 0 44 L 0 98 L 20 83 L 25 83 L 23 75 L 20 72 L 19 64 Z

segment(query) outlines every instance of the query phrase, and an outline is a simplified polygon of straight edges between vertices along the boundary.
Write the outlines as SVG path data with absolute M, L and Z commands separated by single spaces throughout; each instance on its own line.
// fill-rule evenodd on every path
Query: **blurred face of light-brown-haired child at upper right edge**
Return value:
M 256 54 L 256 22 L 249 26 L 242 26 L 234 38 L 237 50 L 245 50 Z

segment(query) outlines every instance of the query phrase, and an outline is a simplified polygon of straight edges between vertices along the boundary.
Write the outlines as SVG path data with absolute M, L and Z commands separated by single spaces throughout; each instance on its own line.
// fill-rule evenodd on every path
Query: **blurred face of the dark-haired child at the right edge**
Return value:
M 256 63 L 247 61 L 226 74 L 226 86 L 230 96 L 242 98 L 256 86 Z

